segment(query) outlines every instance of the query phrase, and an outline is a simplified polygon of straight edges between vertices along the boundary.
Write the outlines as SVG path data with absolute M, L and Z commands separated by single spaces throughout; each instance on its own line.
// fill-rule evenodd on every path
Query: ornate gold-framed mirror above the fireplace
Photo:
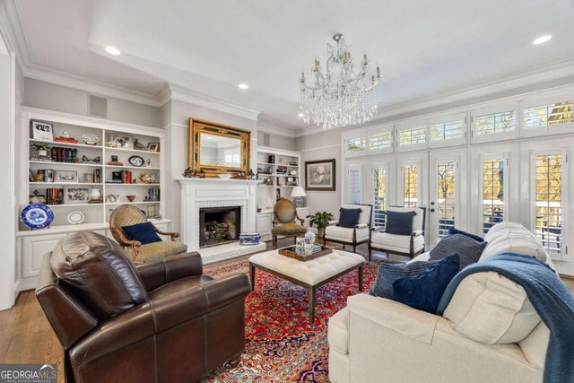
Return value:
M 187 167 L 206 177 L 249 171 L 251 132 L 233 126 L 189 118 Z

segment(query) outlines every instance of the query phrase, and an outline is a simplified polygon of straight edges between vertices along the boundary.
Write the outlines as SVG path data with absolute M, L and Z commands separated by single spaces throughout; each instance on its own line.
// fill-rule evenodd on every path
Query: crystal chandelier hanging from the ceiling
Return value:
M 369 74 L 369 59 L 363 55 L 355 72 L 349 47 L 341 33 L 333 36 L 335 47 L 327 44 L 325 71 L 315 60 L 311 67 L 311 83 L 301 74 L 301 112 L 303 121 L 311 121 L 324 129 L 361 125 L 377 113 L 377 88 L 382 80 L 380 69 Z

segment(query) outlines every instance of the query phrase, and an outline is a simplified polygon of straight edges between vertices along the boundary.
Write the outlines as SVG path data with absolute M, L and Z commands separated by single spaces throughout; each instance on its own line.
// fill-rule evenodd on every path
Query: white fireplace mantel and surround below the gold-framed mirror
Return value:
M 188 251 L 199 251 L 199 209 L 203 207 L 241 207 L 241 231 L 256 231 L 256 187 L 260 180 L 223 178 L 184 178 L 181 185 L 182 242 Z

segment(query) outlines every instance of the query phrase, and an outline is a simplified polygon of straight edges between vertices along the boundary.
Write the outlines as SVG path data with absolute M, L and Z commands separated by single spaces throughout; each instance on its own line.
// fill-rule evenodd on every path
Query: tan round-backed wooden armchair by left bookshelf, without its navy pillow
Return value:
M 170 241 L 158 241 L 143 245 L 139 240 L 128 239 L 124 228 L 137 223 L 148 222 L 145 214 L 134 205 L 121 205 L 109 217 L 109 231 L 123 248 L 130 248 L 135 264 L 143 264 L 164 257 L 185 253 L 187 245 L 177 242 L 177 232 L 163 232 L 152 225 L 153 230 L 160 235 L 170 236 Z

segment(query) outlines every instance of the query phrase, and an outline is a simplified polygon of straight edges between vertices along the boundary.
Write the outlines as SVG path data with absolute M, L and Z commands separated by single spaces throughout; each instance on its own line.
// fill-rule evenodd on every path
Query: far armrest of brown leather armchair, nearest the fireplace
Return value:
M 194 251 L 136 265 L 136 269 L 142 277 L 145 289 L 152 292 L 166 283 L 203 274 L 204 264 L 199 253 Z

